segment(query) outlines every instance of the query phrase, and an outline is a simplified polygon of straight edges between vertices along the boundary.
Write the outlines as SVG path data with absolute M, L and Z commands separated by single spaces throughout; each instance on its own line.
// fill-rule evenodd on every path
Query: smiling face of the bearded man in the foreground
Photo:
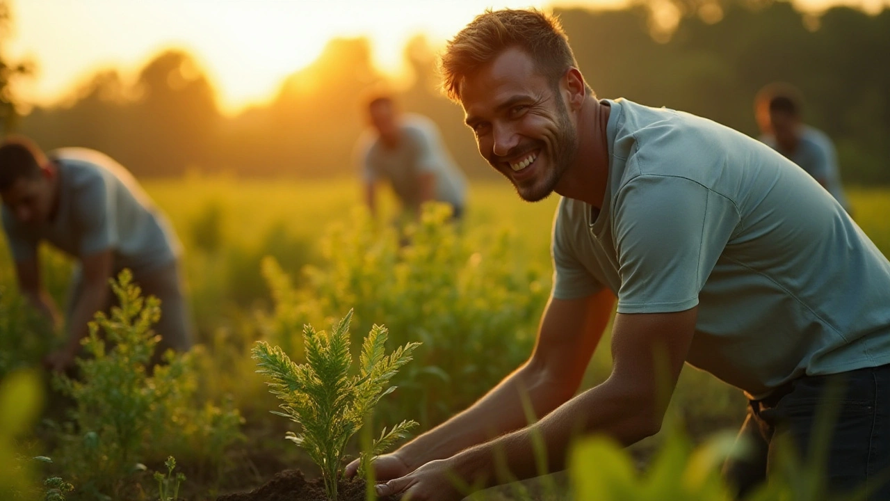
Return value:
M 468 75 L 460 91 L 482 157 L 522 199 L 553 193 L 575 159 L 578 134 L 562 93 L 535 70 L 530 55 L 507 49 Z

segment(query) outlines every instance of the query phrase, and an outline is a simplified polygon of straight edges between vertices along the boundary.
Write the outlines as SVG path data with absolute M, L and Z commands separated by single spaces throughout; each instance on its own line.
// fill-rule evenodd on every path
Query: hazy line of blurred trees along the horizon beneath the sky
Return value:
M 667 28 L 659 12 L 674 16 Z M 836 141 L 845 183 L 890 184 L 890 10 L 834 7 L 816 17 L 771 0 L 651 0 L 617 11 L 556 13 L 600 97 L 690 111 L 756 136 L 756 91 L 789 82 L 805 96 L 806 121 Z M 470 176 L 492 176 L 460 107 L 438 90 L 433 49 L 417 37 L 404 55 L 415 78 L 401 94 L 402 107 L 439 123 Z M 334 39 L 269 103 L 229 117 L 198 63 L 170 50 L 133 84 L 117 70 L 99 71 L 68 99 L 33 109 L 15 127 L 47 149 L 107 152 L 142 177 L 190 169 L 342 177 L 355 173 L 352 145 L 365 123 L 361 90 L 381 79 L 367 40 Z M 0 97 L 3 87 L 0 71 Z

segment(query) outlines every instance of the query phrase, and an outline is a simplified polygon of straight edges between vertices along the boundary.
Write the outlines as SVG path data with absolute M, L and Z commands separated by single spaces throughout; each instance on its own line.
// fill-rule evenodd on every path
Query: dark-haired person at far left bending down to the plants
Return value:
M 0 144 L 0 196 L 20 290 L 53 324 L 60 318 L 40 281 L 38 244 L 49 242 L 78 261 L 65 316 L 67 342 L 44 365 L 59 372 L 71 368 L 89 333 L 87 323 L 111 304 L 109 279 L 123 268 L 133 272 L 144 295 L 161 300 L 156 360 L 168 348 L 190 348 L 180 243 L 125 168 L 93 150 L 46 155 L 27 138 L 9 138 Z

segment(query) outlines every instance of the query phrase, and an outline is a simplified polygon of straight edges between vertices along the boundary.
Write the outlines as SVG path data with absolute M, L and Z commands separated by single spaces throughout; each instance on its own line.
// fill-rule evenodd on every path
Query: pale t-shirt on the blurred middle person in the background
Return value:
M 418 175 L 432 173 L 435 177 L 435 200 L 463 207 L 466 178 L 457 168 L 432 120 L 406 113 L 401 118 L 401 141 L 387 148 L 379 136 L 368 133 L 359 142 L 362 176 L 373 182 L 384 178 L 392 191 L 409 206 L 417 204 L 420 189 Z

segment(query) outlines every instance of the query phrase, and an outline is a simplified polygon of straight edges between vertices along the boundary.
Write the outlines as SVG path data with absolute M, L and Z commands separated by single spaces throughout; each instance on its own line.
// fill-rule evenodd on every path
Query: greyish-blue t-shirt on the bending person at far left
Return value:
M 63 148 L 49 157 L 59 167 L 59 208 L 53 220 L 25 225 L 3 208 L 14 259 L 33 259 L 45 240 L 77 259 L 113 250 L 115 270 L 128 267 L 138 275 L 181 254 L 166 218 L 115 160 L 86 148 Z

